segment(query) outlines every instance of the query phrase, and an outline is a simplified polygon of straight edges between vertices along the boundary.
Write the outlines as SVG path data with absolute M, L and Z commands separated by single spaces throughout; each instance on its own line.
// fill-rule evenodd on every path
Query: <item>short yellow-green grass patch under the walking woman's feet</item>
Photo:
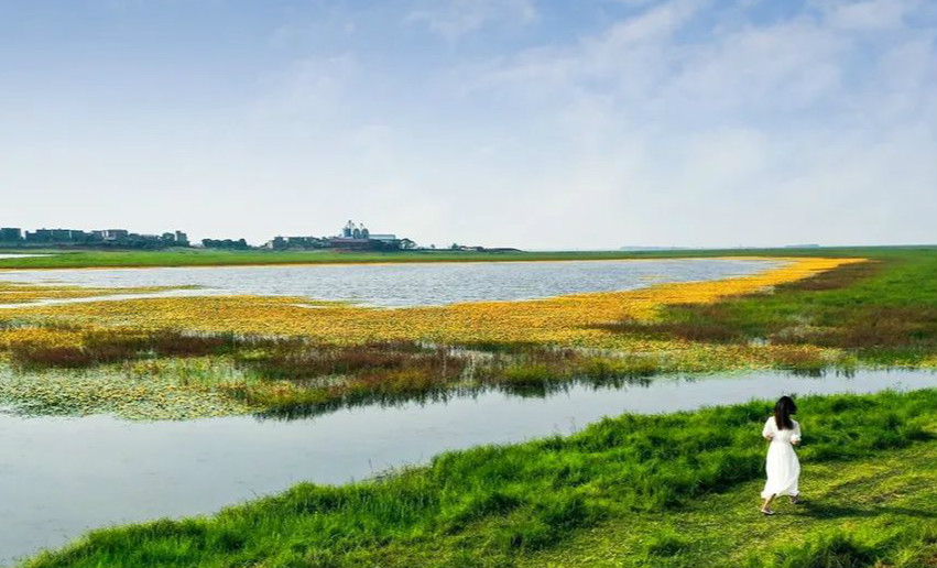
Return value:
M 803 456 L 802 456 L 803 457 Z M 525 556 L 524 568 L 927 568 L 937 565 L 937 445 L 803 463 L 804 501 L 755 512 L 762 481 L 679 513 L 618 517 Z

